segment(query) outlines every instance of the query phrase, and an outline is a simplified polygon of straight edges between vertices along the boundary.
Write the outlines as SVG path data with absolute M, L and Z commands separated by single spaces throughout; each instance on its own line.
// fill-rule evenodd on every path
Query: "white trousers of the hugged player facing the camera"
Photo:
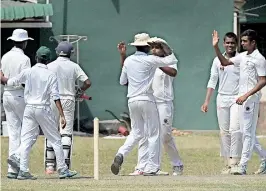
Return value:
M 172 137 L 172 124 L 173 124 L 173 113 L 174 113 L 173 102 L 157 102 L 156 105 L 159 112 L 161 143 L 163 144 L 165 151 L 168 153 L 171 165 L 181 166 L 183 165 L 183 163 L 176 148 L 175 141 Z M 162 151 L 163 149 L 160 150 Z M 160 159 L 161 158 L 162 158 L 162 152 L 160 153 Z M 147 159 L 148 159 L 148 139 L 145 136 L 139 142 L 138 164 L 136 169 L 143 171 L 147 163 Z

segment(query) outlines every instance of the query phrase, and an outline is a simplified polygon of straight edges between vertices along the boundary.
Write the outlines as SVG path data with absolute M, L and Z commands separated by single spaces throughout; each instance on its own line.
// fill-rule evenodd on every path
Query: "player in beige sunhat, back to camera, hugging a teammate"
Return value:
M 111 171 L 115 175 L 119 173 L 124 158 L 144 136 L 148 139 L 148 162 L 143 175 L 155 176 L 160 171 L 160 122 L 152 82 L 158 67 L 174 65 L 177 59 L 165 43 L 160 45 L 169 56 L 161 58 L 148 55 L 149 39 L 146 33 L 135 35 L 135 41 L 130 45 L 135 46 L 137 51 L 125 59 L 122 67 L 120 84 L 128 85 L 127 97 L 132 130 L 111 165 Z

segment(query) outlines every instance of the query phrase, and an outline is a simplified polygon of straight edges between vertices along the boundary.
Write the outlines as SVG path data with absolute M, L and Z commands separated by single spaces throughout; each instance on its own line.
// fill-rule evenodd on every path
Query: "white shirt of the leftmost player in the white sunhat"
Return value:
M 31 67 L 30 58 L 24 54 L 20 48 L 13 47 L 10 51 L 3 55 L 1 60 L 1 71 L 7 78 L 17 76 L 22 70 Z M 14 84 L 12 87 L 4 87 L 4 90 L 13 91 L 20 90 L 23 94 L 21 84 Z

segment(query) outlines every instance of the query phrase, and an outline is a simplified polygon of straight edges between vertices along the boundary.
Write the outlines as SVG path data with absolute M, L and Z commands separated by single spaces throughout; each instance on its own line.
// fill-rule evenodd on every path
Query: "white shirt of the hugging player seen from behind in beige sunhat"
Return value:
M 176 63 L 174 54 L 161 58 L 137 51 L 127 57 L 121 72 L 120 84 L 128 83 L 128 101 L 155 101 L 152 89 L 155 70 Z

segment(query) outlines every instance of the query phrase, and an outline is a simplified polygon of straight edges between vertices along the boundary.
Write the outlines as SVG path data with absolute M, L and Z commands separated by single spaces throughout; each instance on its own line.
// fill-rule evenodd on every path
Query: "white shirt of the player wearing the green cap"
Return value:
M 7 85 L 24 83 L 24 99 L 27 105 L 46 106 L 59 99 L 56 75 L 44 64 L 37 63 L 30 69 L 23 70 L 18 76 L 8 79 Z

